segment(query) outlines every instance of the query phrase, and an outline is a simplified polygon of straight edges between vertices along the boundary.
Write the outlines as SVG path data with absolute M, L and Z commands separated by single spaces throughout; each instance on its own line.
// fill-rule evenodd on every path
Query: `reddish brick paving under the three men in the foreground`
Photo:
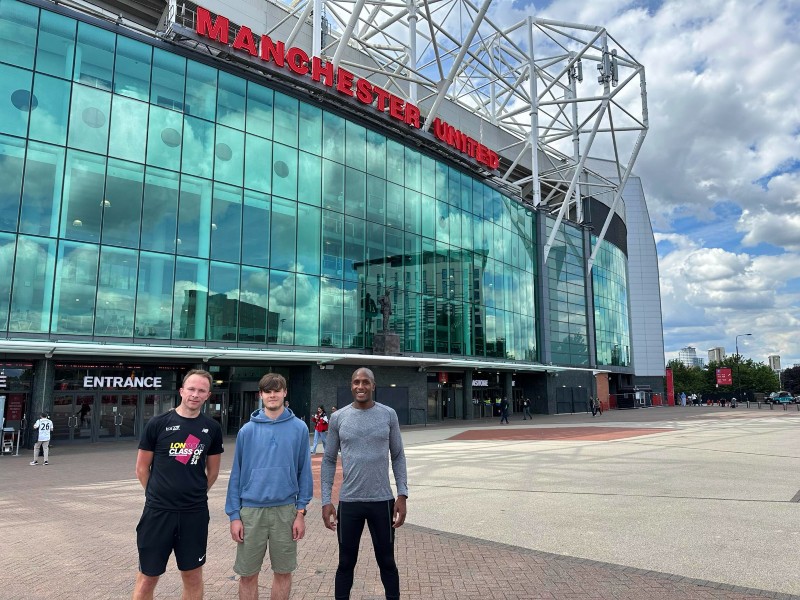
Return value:
M 135 448 L 131 442 L 59 444 L 47 467 L 29 466 L 27 451 L 0 458 L 0 598 L 130 597 L 137 564 L 134 528 L 144 500 L 133 475 Z M 205 597 L 211 600 L 237 593 L 235 544 L 223 510 L 232 452 L 228 439 L 223 472 L 210 495 Z M 318 469 L 319 456 L 313 462 Z M 413 498 L 409 508 L 409 522 L 397 536 L 402 597 L 408 600 L 796 598 L 443 533 L 413 524 L 419 508 Z M 293 600 L 333 597 L 336 538 L 320 514 L 314 502 L 299 546 Z M 269 596 L 269 580 L 266 566 L 262 598 Z M 376 600 L 383 598 L 381 591 L 365 533 L 351 598 Z M 180 577 L 171 561 L 156 597 L 179 596 Z

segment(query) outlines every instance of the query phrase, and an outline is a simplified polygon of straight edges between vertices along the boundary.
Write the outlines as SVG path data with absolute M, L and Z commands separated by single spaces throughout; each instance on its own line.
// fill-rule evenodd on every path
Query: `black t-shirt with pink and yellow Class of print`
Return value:
M 193 419 L 174 410 L 147 423 L 139 450 L 153 452 L 145 504 L 170 511 L 208 504 L 206 457 L 222 454 L 222 428 L 203 414 Z

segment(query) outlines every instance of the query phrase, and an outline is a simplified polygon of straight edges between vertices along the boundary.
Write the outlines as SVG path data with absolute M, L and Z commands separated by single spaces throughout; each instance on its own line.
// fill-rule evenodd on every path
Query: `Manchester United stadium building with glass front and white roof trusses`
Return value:
M 192 368 L 228 434 L 268 371 L 301 418 L 356 366 L 403 423 L 663 393 L 643 69 L 489 4 L 0 0 L 6 424 L 135 438 Z

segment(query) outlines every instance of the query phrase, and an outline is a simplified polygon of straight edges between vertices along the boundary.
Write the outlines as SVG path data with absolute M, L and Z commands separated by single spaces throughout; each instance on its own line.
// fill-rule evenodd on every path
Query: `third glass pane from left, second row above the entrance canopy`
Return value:
M 105 158 L 74 150 L 67 153 L 61 207 L 62 237 L 90 242 L 100 241 L 105 178 Z

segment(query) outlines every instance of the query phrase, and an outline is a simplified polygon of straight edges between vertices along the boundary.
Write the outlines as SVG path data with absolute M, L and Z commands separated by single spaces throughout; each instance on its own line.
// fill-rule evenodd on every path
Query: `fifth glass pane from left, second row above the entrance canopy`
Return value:
M 148 167 L 144 180 L 141 247 L 156 252 L 175 252 L 178 224 L 178 174 Z M 171 271 L 170 271 L 171 273 Z

